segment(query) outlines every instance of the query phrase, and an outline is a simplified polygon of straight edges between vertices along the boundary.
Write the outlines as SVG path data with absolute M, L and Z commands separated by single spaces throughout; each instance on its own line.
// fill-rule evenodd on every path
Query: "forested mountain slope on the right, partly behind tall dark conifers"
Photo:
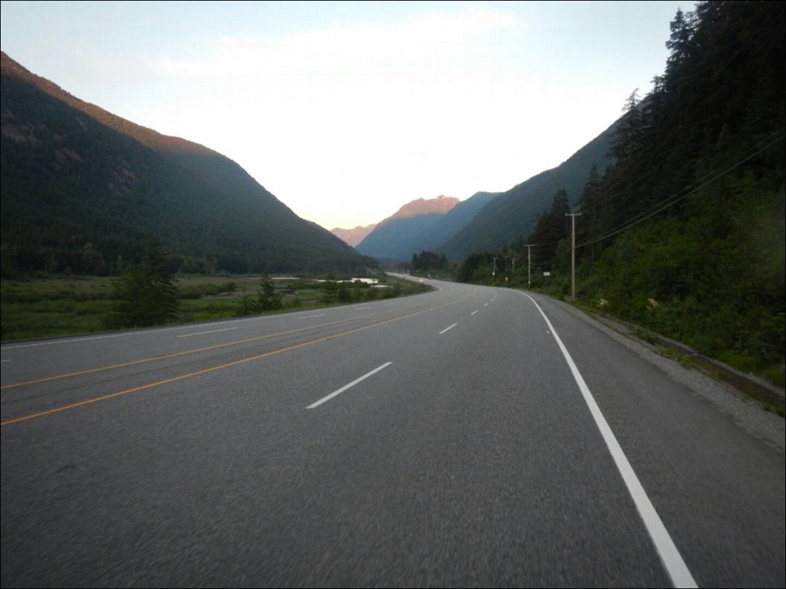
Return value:
M 526 237 L 538 214 L 549 208 L 560 188 L 565 188 L 570 202 L 576 203 L 592 167 L 596 166 L 602 175 L 608 166 L 608 152 L 616 124 L 609 126 L 560 166 L 545 170 L 491 199 L 472 221 L 437 249 L 451 260 L 461 260 L 472 251 L 493 250 L 519 236 Z

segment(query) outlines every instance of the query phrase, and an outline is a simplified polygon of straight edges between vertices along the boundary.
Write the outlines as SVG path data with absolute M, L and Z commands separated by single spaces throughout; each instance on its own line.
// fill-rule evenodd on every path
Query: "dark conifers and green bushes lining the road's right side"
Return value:
M 526 240 L 468 256 L 457 280 L 569 298 L 575 220 L 576 304 L 782 388 L 783 27 L 775 2 L 678 12 L 664 75 L 627 97 L 612 165 L 580 194 L 557 190 Z

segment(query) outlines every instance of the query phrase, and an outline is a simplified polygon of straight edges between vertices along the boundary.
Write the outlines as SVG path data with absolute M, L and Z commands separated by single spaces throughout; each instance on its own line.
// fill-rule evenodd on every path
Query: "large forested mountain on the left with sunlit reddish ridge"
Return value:
M 145 236 L 184 272 L 369 264 L 203 145 L 80 101 L 2 53 L 2 275 L 114 273 Z

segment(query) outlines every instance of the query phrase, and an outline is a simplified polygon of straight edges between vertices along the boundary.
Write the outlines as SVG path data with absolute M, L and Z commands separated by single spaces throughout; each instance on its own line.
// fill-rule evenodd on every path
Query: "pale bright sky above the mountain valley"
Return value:
M 652 89 L 695 2 L 0 6 L 24 68 L 351 229 L 558 166 Z

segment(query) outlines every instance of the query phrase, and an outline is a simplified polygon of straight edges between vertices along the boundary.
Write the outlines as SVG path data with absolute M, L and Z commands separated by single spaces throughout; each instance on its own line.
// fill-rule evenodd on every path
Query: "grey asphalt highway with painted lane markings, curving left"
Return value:
M 2 586 L 784 587 L 782 448 L 564 305 L 437 285 L 2 346 Z

